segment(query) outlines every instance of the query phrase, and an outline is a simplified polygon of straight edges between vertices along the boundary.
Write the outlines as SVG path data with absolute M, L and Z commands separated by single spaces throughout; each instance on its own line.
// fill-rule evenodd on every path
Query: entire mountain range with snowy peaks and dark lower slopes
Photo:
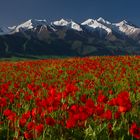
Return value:
M 82 23 L 60 19 L 30 19 L 0 27 L 0 57 L 139 55 L 140 27 L 126 20 L 111 23 L 87 19 Z

